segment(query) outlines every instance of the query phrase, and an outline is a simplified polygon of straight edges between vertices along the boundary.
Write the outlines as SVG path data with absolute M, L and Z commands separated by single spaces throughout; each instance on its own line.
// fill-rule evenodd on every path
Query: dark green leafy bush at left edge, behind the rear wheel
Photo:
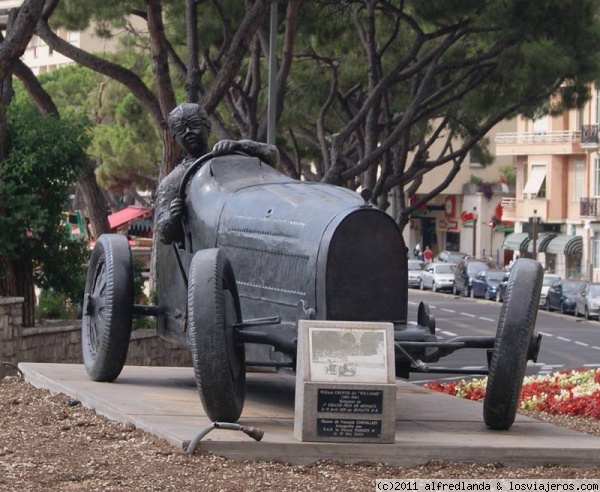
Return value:
M 87 159 L 86 122 L 42 116 L 21 102 L 9 106 L 8 129 L 10 150 L 0 162 L 0 256 L 32 261 L 38 286 L 77 299 L 87 245 L 69 239 L 63 212 Z

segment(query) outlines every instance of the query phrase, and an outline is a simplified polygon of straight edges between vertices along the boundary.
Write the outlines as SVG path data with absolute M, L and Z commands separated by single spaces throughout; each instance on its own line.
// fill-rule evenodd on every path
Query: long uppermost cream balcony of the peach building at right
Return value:
M 582 135 L 585 132 L 583 128 L 582 131 L 498 133 L 495 139 L 496 155 L 583 154 L 585 152 L 585 144 L 582 143 Z M 588 129 L 585 138 L 593 140 L 592 129 Z M 595 138 L 598 139 L 597 131 Z

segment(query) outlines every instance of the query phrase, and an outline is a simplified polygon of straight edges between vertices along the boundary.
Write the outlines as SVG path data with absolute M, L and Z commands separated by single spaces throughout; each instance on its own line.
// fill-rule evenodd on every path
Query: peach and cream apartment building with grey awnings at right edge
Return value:
M 538 259 L 565 278 L 600 280 L 600 98 L 581 110 L 537 120 L 496 135 L 499 156 L 512 156 L 514 196 L 502 201 L 514 232 L 503 247 Z

